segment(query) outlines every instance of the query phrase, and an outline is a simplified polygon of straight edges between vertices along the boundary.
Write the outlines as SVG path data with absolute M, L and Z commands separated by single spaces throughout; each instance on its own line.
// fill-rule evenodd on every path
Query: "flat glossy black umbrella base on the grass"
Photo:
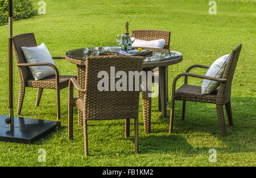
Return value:
M 0 115 L 0 141 L 31 143 L 51 133 L 60 122 L 42 119 L 14 117 L 14 127 L 9 129 L 5 123 L 6 115 Z

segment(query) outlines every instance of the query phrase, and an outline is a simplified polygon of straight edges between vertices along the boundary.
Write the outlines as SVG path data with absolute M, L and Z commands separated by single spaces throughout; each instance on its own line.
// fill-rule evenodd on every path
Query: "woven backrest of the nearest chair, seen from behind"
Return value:
M 139 90 L 129 91 L 129 71 L 142 71 L 143 57 L 138 56 L 96 56 L 86 58 L 85 118 L 86 119 L 125 119 L 138 118 Z M 114 67 L 110 70 L 110 67 Z M 126 74 L 123 74 L 123 71 Z M 99 73 L 100 72 L 100 73 Z M 122 73 L 119 78 L 115 74 Z M 102 74 L 106 74 L 104 77 Z M 112 88 L 118 80 L 127 76 L 121 86 L 123 90 Z M 118 77 L 118 76 L 117 76 Z M 134 78 L 133 78 L 134 79 Z M 105 85 L 100 81 L 105 81 Z M 129 80 L 129 82 L 128 82 Z M 135 80 L 132 81 L 135 86 Z M 119 83 L 120 84 L 120 83 Z M 109 85 L 109 86 L 107 86 Z M 106 86 L 106 90 L 98 86 Z M 120 86 L 120 85 L 119 85 Z M 113 90 L 111 90 L 114 89 Z M 125 91 L 126 90 L 126 91 Z

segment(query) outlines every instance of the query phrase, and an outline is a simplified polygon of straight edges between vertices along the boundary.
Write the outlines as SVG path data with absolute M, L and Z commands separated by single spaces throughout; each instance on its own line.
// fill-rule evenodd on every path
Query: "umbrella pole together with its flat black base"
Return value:
M 60 122 L 15 117 L 13 111 L 13 0 L 9 0 L 9 116 L 0 115 L 0 141 L 31 143 L 54 131 Z

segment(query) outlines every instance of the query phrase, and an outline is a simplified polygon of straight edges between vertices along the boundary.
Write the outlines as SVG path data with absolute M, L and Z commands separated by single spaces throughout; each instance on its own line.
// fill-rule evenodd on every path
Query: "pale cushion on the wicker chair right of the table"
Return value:
M 205 76 L 222 78 L 229 56 L 230 55 L 225 55 L 214 61 Z M 220 82 L 218 81 L 204 79 L 201 86 L 201 94 L 210 94 L 218 88 L 219 85 Z

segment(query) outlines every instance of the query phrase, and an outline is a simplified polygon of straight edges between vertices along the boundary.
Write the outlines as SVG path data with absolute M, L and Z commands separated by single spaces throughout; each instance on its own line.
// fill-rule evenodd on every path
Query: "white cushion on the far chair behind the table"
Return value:
M 152 40 L 152 41 L 135 39 L 132 47 L 163 48 L 164 43 L 166 43 L 166 40 L 164 39 Z

